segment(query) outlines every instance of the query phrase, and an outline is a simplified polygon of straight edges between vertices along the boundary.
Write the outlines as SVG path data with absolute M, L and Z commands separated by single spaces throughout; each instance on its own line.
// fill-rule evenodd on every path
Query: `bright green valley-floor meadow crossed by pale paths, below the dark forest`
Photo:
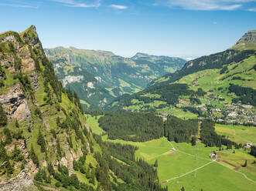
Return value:
M 103 130 L 97 125 L 97 119 L 89 117 L 87 120 L 92 131 L 101 135 Z M 169 142 L 164 137 L 148 142 L 110 140 L 106 135 L 103 139 L 138 146 L 135 157 L 145 159 L 148 163 L 154 164 L 158 160 L 159 181 L 162 183 L 170 179 L 168 183 L 162 184 L 168 186 L 169 190 L 180 190 L 182 186 L 185 190 L 256 190 L 256 165 L 251 163 L 254 157 L 242 149 L 236 149 L 235 153 L 233 150 L 224 150 L 217 154 L 222 157 L 220 159 L 235 166 L 241 166 L 245 159 L 248 160 L 246 168 L 235 171 L 227 163 L 210 159 L 210 153 L 218 148 L 205 147 L 202 143 L 191 146 L 185 142 Z M 176 152 L 169 155 L 173 147 Z

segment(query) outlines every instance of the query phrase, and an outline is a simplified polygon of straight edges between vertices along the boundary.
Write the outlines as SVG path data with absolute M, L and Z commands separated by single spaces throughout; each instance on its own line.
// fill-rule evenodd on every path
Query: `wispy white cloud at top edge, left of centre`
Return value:
M 73 0 L 52 0 L 53 2 L 60 2 L 68 7 L 80 7 L 80 8 L 90 8 L 101 6 L 101 0 L 83 2 L 83 1 L 73 1 Z

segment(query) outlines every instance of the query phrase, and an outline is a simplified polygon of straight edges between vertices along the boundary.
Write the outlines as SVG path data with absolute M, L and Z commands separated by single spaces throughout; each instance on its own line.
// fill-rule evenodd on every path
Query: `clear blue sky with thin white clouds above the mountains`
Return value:
M 36 25 L 44 48 L 195 58 L 256 29 L 256 0 L 0 0 L 0 32 Z

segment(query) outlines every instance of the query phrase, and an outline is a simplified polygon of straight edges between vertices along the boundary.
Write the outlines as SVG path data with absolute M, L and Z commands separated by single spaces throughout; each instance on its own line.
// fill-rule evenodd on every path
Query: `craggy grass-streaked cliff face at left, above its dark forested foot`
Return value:
M 35 26 L 0 35 L 0 107 L 1 190 L 37 190 L 36 173 L 52 179 L 46 169 L 65 166 L 71 175 L 73 160 L 94 159 L 79 99 L 58 82 Z

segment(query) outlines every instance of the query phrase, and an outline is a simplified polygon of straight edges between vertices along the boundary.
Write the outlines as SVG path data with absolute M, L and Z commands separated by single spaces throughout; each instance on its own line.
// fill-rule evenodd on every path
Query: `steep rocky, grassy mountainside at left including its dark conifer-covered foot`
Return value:
M 135 147 L 123 150 L 93 136 L 35 26 L 0 34 L 1 190 L 166 190 Z

